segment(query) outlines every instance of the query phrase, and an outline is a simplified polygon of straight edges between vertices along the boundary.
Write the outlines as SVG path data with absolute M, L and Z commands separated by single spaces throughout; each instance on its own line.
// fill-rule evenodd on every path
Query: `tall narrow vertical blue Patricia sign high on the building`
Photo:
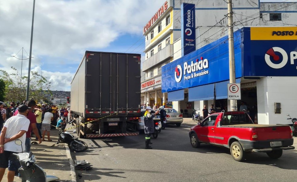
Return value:
M 181 54 L 187 55 L 196 50 L 195 4 L 181 5 Z

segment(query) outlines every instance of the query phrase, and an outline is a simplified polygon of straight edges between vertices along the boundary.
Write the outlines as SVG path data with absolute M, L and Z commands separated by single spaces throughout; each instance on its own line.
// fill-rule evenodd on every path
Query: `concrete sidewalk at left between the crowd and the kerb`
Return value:
M 74 168 L 71 169 L 70 163 L 73 161 L 70 156 L 70 151 L 68 145 L 65 143 L 56 144 L 54 147 L 51 147 L 54 143 L 57 142 L 59 130 L 51 130 L 50 137 L 51 142 L 43 141 L 41 144 L 31 144 L 31 151 L 37 158 L 37 165 L 44 169 L 47 175 L 54 175 L 60 178 L 58 181 L 63 182 L 76 182 L 76 176 Z M 35 137 L 31 138 L 31 142 L 35 141 Z M 38 143 L 38 141 L 37 141 Z M 70 159 L 69 159 L 70 158 Z M 3 181 L 7 180 L 7 170 L 3 176 Z M 21 178 L 15 176 L 15 182 L 21 182 Z

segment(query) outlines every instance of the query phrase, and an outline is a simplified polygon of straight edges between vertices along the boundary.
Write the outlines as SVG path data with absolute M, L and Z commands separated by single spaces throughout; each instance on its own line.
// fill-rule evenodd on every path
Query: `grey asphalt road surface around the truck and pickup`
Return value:
M 77 181 L 296 181 L 297 150 L 287 150 L 279 159 L 266 153 L 248 154 L 235 161 L 227 148 L 190 145 L 190 126 L 175 125 L 152 139 L 145 150 L 144 134 L 131 137 L 82 139 L 88 150 L 72 153 L 74 160 L 88 160 L 89 171 L 77 171 Z M 295 147 L 297 138 L 295 137 Z M 296 147 L 297 148 L 297 147 Z

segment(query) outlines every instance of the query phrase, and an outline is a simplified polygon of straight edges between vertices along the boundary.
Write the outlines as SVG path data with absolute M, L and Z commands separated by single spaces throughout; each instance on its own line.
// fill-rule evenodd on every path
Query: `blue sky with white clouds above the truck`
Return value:
M 133 52 L 144 58 L 142 27 L 164 2 L 37 0 L 31 70 L 42 71 L 52 82 L 51 90 L 70 91 L 72 76 L 86 50 Z M 21 61 L 11 56 L 21 58 L 18 51 L 22 47 L 29 54 L 32 8 L 33 0 L 0 1 L 0 69 L 10 71 L 14 66 L 21 70 Z M 28 60 L 24 60 L 23 73 L 27 70 Z

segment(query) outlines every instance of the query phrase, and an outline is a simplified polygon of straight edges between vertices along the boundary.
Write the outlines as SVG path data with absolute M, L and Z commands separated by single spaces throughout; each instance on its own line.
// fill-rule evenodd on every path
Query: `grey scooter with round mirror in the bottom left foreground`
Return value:
M 22 146 L 22 141 L 20 139 L 15 140 L 15 144 Z M 49 182 L 59 180 L 59 177 L 46 175 L 46 172 L 35 164 L 37 162 L 36 157 L 32 152 L 14 154 L 17 156 L 21 163 L 21 168 L 18 169 L 21 174 L 22 182 Z

